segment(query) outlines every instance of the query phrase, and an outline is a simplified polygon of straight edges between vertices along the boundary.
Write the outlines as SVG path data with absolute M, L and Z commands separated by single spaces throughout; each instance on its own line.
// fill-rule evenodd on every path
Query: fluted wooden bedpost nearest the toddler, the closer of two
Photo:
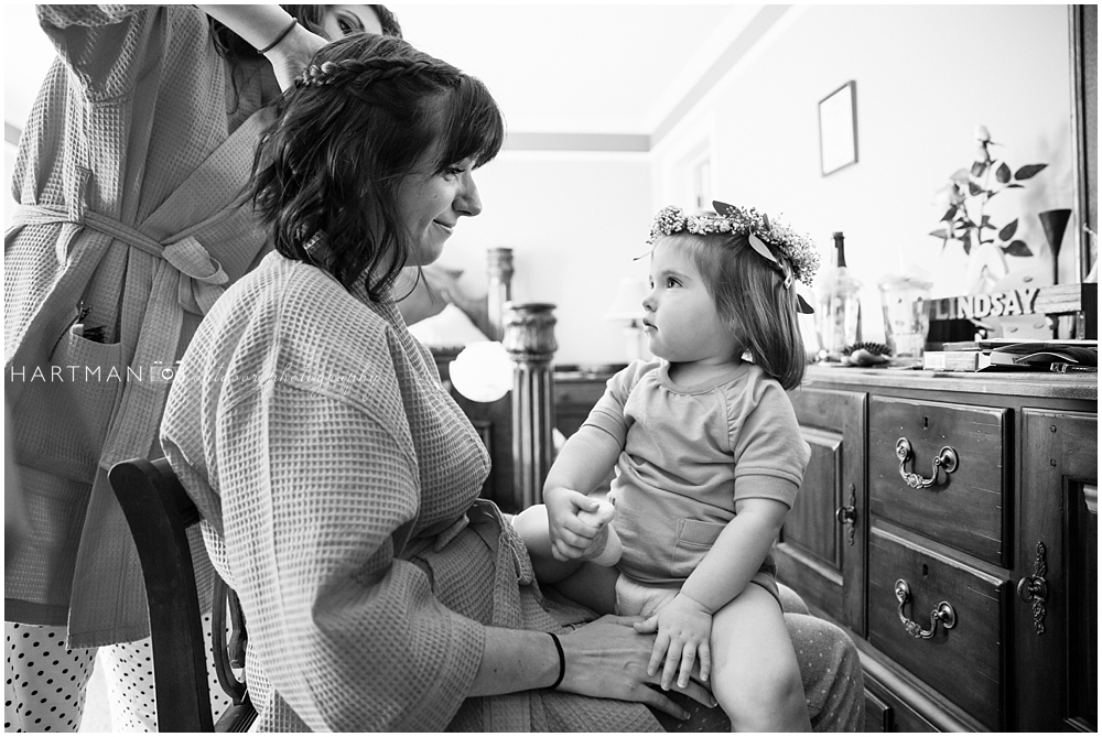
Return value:
M 501 343 L 512 359 L 512 498 L 518 510 L 543 501 L 554 456 L 553 304 L 508 304 Z

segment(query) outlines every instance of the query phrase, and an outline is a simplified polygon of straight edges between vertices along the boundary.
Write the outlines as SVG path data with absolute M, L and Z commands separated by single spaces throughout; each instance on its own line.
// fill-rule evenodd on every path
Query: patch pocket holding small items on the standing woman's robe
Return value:
M 79 330 L 65 332 L 47 365 L 25 369 L 12 419 L 21 464 L 90 484 L 127 371 L 121 344 Z

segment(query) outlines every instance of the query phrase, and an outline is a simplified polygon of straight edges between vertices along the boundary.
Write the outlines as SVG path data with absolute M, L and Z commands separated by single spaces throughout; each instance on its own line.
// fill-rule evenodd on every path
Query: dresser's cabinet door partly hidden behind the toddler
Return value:
M 780 579 L 863 636 L 866 395 L 804 386 L 792 403 L 811 460 L 777 545 Z

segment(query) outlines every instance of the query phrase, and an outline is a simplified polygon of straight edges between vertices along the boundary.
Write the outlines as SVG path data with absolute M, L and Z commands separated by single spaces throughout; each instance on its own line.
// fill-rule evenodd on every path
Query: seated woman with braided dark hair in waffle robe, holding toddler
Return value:
M 630 619 L 543 596 L 396 307 L 399 271 L 482 212 L 474 177 L 503 138 L 480 82 L 386 36 L 320 50 L 262 137 L 274 252 L 207 314 L 161 426 L 240 597 L 260 730 L 641 731 L 660 728 L 647 705 L 714 704 L 698 682 L 677 704 L 650 687 L 653 639 Z M 812 713 L 850 726 L 855 651 L 807 633 L 827 651 Z

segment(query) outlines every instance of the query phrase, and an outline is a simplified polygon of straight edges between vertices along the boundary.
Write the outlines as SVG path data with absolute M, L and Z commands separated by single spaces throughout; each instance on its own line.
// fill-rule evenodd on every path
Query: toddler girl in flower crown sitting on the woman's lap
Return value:
M 765 214 L 713 205 L 656 217 L 642 303 L 656 359 L 608 380 L 545 503 L 514 524 L 541 582 L 657 630 L 663 689 L 699 666 L 733 729 L 810 730 L 770 549 L 810 457 L 786 390 L 803 378 L 810 312 L 793 282 L 811 283 L 818 256 Z M 613 467 L 612 505 L 588 497 Z

